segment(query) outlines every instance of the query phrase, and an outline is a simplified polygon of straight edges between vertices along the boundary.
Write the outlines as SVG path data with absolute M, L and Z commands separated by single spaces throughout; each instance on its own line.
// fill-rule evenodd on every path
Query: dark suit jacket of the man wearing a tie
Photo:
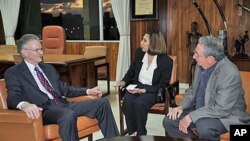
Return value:
M 39 66 L 60 97 L 86 95 L 86 88 L 74 88 L 63 85 L 53 66 L 43 63 L 40 63 Z M 39 89 L 24 61 L 7 69 L 4 74 L 4 79 L 8 92 L 7 105 L 10 109 L 15 109 L 21 101 L 27 101 L 41 106 L 49 100 L 47 94 Z

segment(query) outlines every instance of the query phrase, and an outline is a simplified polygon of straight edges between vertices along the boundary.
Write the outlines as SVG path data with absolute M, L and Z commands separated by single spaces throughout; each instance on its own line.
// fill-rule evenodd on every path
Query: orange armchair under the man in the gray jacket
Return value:
M 247 104 L 247 112 L 250 113 L 250 72 L 240 71 L 241 81 L 243 89 L 245 90 L 245 100 Z M 178 94 L 178 93 L 177 93 Z M 178 94 L 175 96 L 175 103 L 178 105 L 181 100 L 184 98 L 184 94 Z M 229 132 L 220 135 L 220 141 L 229 141 L 230 140 Z

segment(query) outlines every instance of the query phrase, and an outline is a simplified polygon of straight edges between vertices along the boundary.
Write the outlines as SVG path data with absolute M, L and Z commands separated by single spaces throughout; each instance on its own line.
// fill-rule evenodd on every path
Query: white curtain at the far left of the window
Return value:
M 6 45 L 15 45 L 14 34 L 17 27 L 21 0 L 0 0 Z

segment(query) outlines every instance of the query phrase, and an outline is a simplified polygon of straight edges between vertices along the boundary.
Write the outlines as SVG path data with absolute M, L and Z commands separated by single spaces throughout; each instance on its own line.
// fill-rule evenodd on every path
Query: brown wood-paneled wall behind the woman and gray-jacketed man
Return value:
M 212 0 L 196 0 L 207 17 L 213 36 L 224 29 L 224 24 Z M 238 0 L 218 0 L 227 20 L 228 52 L 234 55 L 234 42 L 243 35 L 245 30 L 250 30 L 249 12 L 242 11 L 239 16 Z M 178 60 L 178 78 L 180 82 L 188 82 L 188 48 L 186 47 L 186 32 L 191 29 L 191 23 L 196 21 L 199 25 L 198 32 L 208 35 L 205 23 L 192 0 L 159 0 L 158 21 L 131 21 L 131 51 L 132 56 L 147 28 L 160 29 L 166 37 L 168 54 L 176 55 Z M 249 41 L 250 42 L 250 41 Z M 249 42 L 246 52 L 250 53 Z

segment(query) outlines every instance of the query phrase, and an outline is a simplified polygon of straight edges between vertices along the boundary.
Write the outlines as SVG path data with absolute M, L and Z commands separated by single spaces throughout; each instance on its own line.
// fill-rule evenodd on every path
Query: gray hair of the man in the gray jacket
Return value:
M 204 54 L 206 57 L 213 56 L 216 61 L 225 57 L 222 41 L 213 36 L 203 36 L 198 44 L 204 45 Z

